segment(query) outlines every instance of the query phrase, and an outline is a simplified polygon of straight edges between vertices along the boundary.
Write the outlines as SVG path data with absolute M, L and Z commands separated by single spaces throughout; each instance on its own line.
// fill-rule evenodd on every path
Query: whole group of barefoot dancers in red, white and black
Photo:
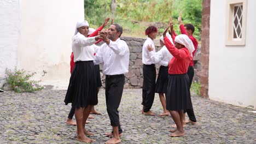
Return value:
M 98 103 L 97 94 L 102 86 L 98 64 L 103 63 L 105 79 L 105 95 L 107 112 L 113 131 L 106 133 L 112 136 L 105 143 L 120 143 L 123 130 L 120 127 L 118 107 L 123 94 L 125 76 L 129 71 L 129 47 L 120 39 L 123 28 L 112 22 L 105 31 L 101 30 L 109 23 L 109 18 L 98 29 L 89 28 L 87 21 L 79 21 L 72 38 L 71 77 L 65 97 L 65 104 L 72 103 L 71 112 L 66 123 L 77 125 L 77 140 L 95 142 L 88 135 L 94 135 L 86 130 L 85 125 L 90 113 L 100 114 L 94 109 Z M 190 97 L 190 86 L 194 76 L 193 56 L 197 40 L 193 37 L 194 26 L 190 23 L 183 26 L 181 15 L 178 18 L 181 35 L 173 31 L 173 22 L 162 33 L 161 50 L 155 52 L 153 40 L 158 29 L 150 26 L 145 34 L 148 36 L 142 47 L 143 88 L 142 113 L 154 116 L 151 111 L 155 93 L 159 93 L 164 112 L 159 116 L 168 116 L 170 112 L 174 129 L 169 136 L 184 135 L 186 123 L 196 124 L 196 118 Z M 170 29 L 170 30 L 169 30 Z M 101 46 L 95 44 L 99 41 Z M 161 65 L 156 80 L 155 64 Z M 155 82 L 156 81 L 156 82 Z M 165 95 L 164 95 L 165 94 Z M 185 121 L 185 112 L 189 120 Z M 76 122 L 72 121 L 75 115 Z

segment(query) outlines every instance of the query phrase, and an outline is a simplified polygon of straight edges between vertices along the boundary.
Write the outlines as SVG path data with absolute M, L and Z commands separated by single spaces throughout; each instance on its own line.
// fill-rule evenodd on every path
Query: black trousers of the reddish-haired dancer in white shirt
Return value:
M 142 88 L 142 105 L 144 105 L 144 112 L 148 112 L 155 98 L 155 64 L 143 64 L 143 88 Z

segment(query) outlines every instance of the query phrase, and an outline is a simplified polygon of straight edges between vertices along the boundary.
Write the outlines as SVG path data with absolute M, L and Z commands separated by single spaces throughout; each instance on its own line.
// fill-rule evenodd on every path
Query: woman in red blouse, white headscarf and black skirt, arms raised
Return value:
M 171 31 L 173 25 L 170 23 Z M 168 27 L 169 28 L 169 27 Z M 162 34 L 165 45 L 173 58 L 169 62 L 168 69 L 168 88 L 166 95 L 166 109 L 170 111 L 176 129 L 170 130 L 172 137 L 183 136 L 182 127 L 183 110 L 192 109 L 192 103 L 189 90 L 189 77 L 187 75 L 189 63 L 192 59 L 192 52 L 195 50 L 192 41 L 188 35 L 181 34 L 175 38 L 175 45 L 165 37 L 168 28 Z

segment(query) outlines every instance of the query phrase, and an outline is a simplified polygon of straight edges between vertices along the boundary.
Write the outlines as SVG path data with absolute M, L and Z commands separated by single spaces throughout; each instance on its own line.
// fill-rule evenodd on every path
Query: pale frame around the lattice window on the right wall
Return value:
M 241 37 L 234 38 L 234 7 L 242 5 L 242 29 Z M 245 45 L 246 44 L 246 17 L 247 17 L 247 0 L 229 0 L 226 13 L 226 45 Z M 238 22 L 239 23 L 239 22 Z

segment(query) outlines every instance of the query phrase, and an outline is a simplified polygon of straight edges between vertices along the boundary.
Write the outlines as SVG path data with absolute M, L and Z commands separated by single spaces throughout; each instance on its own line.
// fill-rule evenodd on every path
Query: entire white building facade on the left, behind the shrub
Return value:
M 36 73 L 42 86 L 66 89 L 71 38 L 84 20 L 83 0 L 0 1 L 0 87 L 5 68 Z

